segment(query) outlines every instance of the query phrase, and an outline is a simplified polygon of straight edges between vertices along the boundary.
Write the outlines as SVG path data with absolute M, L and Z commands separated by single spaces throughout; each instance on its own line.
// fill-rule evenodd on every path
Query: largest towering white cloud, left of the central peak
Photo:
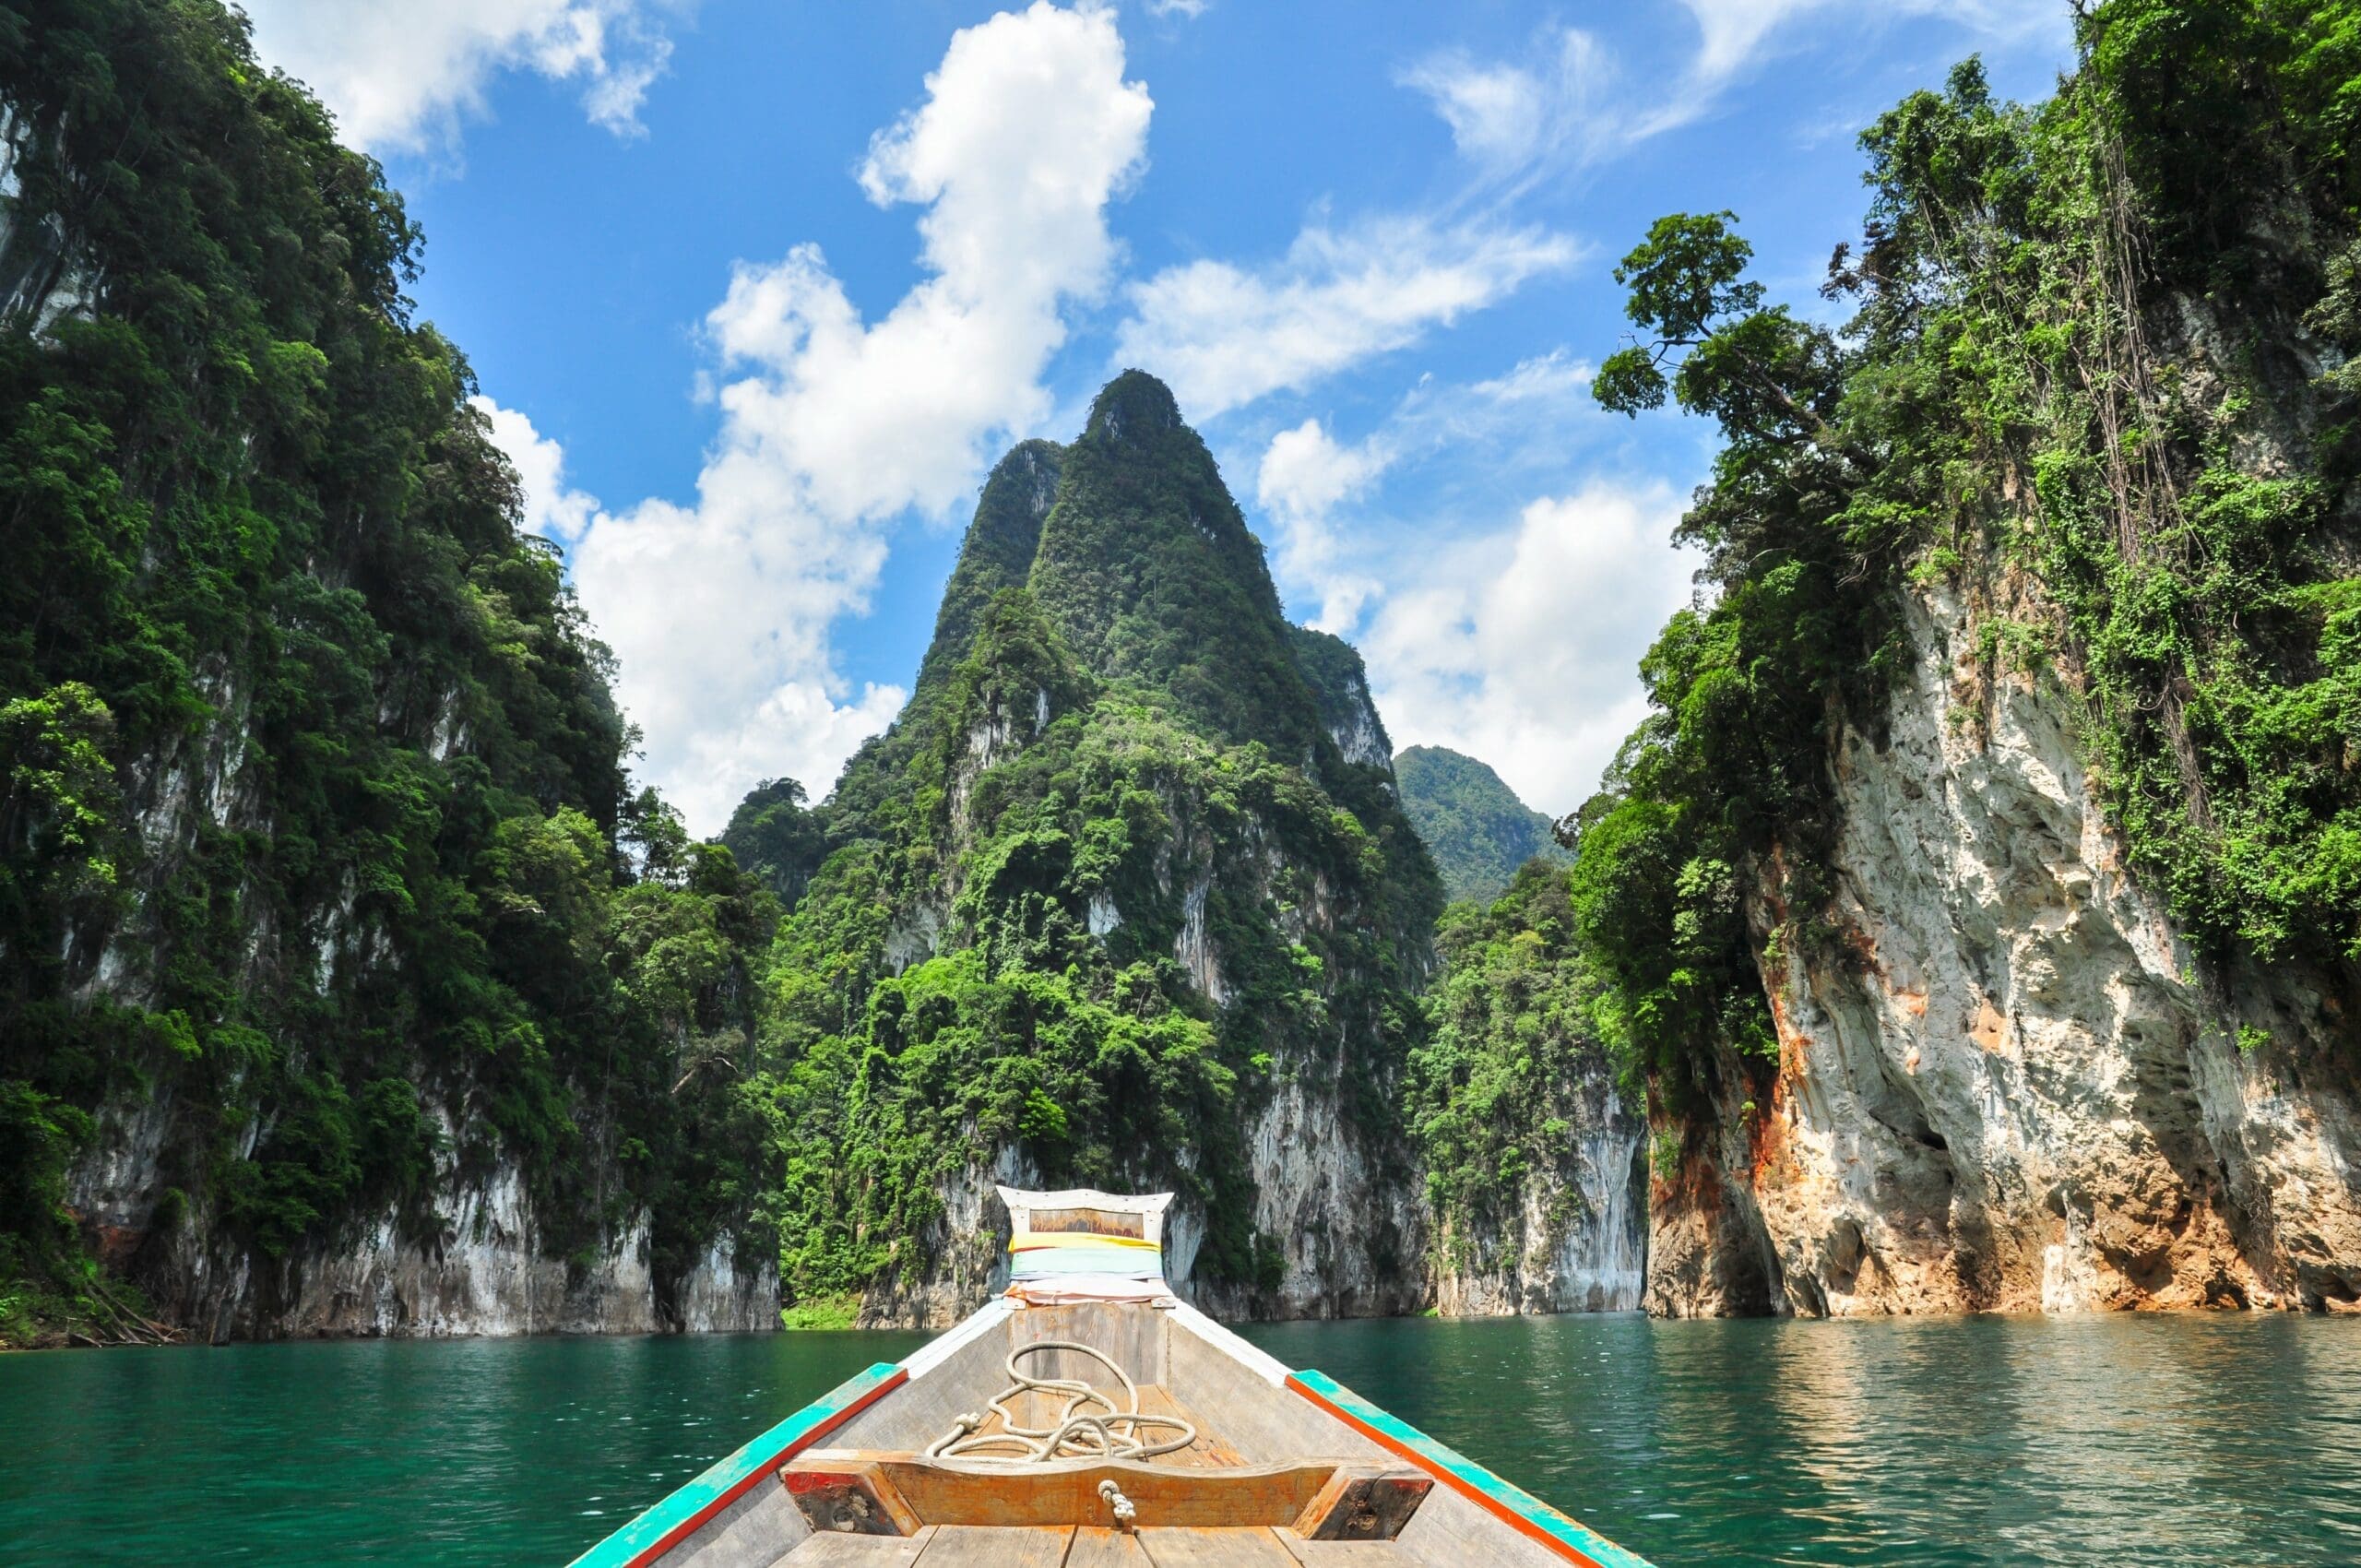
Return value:
M 900 687 L 838 675 L 829 626 L 866 607 L 895 515 L 966 498 L 992 449 L 1051 413 L 1062 307 L 1107 288 L 1105 210 L 1150 109 L 1107 9 L 1003 12 L 951 38 L 859 168 L 878 205 L 926 208 L 921 283 L 869 321 L 817 246 L 732 274 L 706 316 L 720 432 L 694 505 L 600 512 L 571 545 L 647 732 L 642 772 L 696 831 L 763 777 L 824 793 L 900 711 Z M 555 475 L 519 435 L 503 435 L 519 470 Z

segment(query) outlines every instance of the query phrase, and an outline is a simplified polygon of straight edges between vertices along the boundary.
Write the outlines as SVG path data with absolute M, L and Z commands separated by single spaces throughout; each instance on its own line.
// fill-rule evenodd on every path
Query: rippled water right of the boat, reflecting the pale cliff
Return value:
M 1251 1337 L 1667 1568 L 2361 1561 L 2361 1322 L 1546 1318 Z

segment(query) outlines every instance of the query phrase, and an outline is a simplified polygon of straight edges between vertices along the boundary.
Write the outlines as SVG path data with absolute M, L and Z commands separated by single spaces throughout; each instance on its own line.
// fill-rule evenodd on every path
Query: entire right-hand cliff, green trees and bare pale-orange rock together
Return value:
M 1863 132 L 1842 326 L 1728 213 L 1615 272 L 1724 439 L 1565 824 L 1655 1311 L 2361 1292 L 2361 7 L 2075 31 Z

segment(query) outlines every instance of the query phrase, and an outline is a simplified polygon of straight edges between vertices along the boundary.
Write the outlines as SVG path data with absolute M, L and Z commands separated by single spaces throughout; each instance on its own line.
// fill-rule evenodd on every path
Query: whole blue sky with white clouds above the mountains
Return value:
M 1733 208 L 1773 295 L 1950 61 L 2064 0 L 250 0 L 425 224 L 531 527 L 699 831 L 897 711 L 989 463 L 1166 378 L 1395 744 L 1596 786 L 1709 456 L 1608 418 L 1608 276 Z

